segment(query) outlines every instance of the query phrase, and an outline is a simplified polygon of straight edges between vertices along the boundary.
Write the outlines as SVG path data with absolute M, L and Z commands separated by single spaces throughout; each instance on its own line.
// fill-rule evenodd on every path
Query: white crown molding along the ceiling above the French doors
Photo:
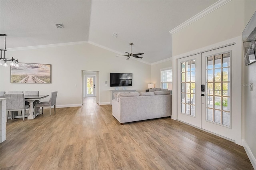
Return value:
M 196 14 L 195 16 L 193 16 L 192 18 L 190 18 L 189 20 L 183 22 L 182 24 L 180 24 L 179 26 L 177 26 L 176 28 L 170 30 L 170 34 L 174 34 L 180 30 L 182 30 L 183 28 L 185 28 L 186 26 L 192 24 L 193 22 L 195 22 L 196 20 L 199 20 L 200 18 L 206 16 L 207 14 L 213 12 L 214 10 L 220 8 L 221 6 L 225 5 L 226 3 L 230 2 L 231 0 L 219 0 L 218 2 L 212 4 L 211 6 L 209 6 L 208 8 L 206 8 L 205 10 L 203 10 L 202 12 Z

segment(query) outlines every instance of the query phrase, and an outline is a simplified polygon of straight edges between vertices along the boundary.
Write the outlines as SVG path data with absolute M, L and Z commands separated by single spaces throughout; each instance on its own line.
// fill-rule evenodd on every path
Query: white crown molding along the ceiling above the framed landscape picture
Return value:
M 88 41 L 69 42 L 69 43 L 56 43 L 56 44 L 36 45 L 36 46 L 18 47 L 18 48 L 8 48 L 7 51 L 18 51 L 18 50 L 25 50 L 25 49 L 38 49 L 38 48 L 47 48 L 47 47 L 60 47 L 60 46 L 76 45 L 76 44 L 84 44 L 84 43 L 88 43 Z

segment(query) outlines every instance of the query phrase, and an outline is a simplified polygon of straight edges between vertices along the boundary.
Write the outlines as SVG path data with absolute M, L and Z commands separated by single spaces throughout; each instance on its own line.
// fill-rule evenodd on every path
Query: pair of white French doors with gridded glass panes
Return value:
M 178 120 L 231 140 L 237 139 L 241 105 L 232 100 L 234 45 L 178 59 Z M 241 127 L 240 127 L 241 128 Z

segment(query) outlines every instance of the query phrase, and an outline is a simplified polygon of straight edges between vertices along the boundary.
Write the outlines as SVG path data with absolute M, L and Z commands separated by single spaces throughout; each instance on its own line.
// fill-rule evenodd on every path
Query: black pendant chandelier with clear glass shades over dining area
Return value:
M 0 49 L 0 65 L 7 67 L 7 61 L 10 61 L 10 66 L 19 67 L 18 59 L 6 58 L 6 34 L 0 34 L 0 36 L 4 36 L 4 49 Z M 2 61 L 4 62 L 2 63 Z

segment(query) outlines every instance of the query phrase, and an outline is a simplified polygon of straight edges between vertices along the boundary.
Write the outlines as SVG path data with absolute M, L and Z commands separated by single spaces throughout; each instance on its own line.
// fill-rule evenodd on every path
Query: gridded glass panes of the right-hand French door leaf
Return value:
M 230 53 L 207 57 L 207 121 L 230 126 Z

